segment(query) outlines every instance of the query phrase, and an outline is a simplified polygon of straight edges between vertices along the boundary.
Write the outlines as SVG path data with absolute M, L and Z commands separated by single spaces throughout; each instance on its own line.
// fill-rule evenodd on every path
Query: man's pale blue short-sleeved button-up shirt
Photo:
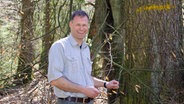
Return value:
M 48 81 L 62 76 L 82 86 L 94 86 L 91 76 L 92 62 L 88 45 L 78 45 L 72 35 L 56 41 L 49 50 Z M 57 97 L 86 97 L 82 93 L 65 92 L 54 86 Z

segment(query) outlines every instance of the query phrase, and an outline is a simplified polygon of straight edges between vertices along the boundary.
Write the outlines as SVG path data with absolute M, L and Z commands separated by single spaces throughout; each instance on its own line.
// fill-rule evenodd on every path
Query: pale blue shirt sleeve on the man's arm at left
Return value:
M 50 50 L 48 56 L 48 81 L 58 79 L 63 76 L 64 62 L 62 55 L 62 45 L 61 43 L 54 43 Z

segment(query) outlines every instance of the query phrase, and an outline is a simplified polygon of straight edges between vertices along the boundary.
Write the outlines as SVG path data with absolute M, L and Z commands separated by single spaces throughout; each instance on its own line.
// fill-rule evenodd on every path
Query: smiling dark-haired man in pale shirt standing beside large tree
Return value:
M 54 86 L 57 104 L 92 104 L 98 87 L 118 89 L 119 82 L 106 82 L 91 76 L 90 50 L 84 41 L 89 17 L 75 11 L 69 23 L 70 35 L 56 41 L 49 51 L 48 80 Z

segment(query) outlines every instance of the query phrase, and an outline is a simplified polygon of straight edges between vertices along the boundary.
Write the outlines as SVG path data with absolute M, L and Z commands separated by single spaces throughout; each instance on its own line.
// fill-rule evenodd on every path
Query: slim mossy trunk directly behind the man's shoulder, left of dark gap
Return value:
M 106 16 L 106 0 L 95 1 L 95 13 L 93 15 L 92 23 L 89 30 L 89 38 L 91 39 L 91 58 L 93 60 L 93 75 L 100 78 L 104 77 L 102 70 L 102 53 L 100 53 L 103 47 L 103 30 Z M 99 63 L 100 62 L 100 63 Z

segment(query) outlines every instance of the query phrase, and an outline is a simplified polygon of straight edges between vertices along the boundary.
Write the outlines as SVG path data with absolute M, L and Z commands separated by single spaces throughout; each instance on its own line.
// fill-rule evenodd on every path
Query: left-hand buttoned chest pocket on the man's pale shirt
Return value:
M 66 56 L 65 69 L 69 72 L 75 72 L 79 70 L 79 62 L 76 57 Z

